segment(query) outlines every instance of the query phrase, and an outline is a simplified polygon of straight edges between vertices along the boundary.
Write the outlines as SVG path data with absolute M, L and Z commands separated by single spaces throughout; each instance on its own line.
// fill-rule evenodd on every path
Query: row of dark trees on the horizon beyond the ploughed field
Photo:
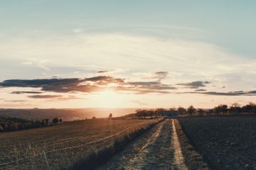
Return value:
M 178 115 L 178 116 L 187 116 L 187 115 L 235 115 L 235 114 L 252 114 L 256 113 L 256 104 L 248 103 L 245 106 L 241 106 L 239 103 L 233 103 L 230 106 L 225 104 L 220 104 L 214 108 L 194 108 L 189 106 L 188 108 L 178 107 L 178 108 L 156 108 L 156 109 L 137 109 L 135 115 L 138 118 L 158 118 L 164 117 L 164 115 Z

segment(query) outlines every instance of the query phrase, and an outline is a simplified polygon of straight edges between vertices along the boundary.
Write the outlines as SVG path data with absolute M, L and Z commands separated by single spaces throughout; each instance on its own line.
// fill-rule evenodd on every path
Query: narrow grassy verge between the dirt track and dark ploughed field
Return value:
M 185 159 L 185 164 L 188 166 L 188 169 L 201 169 L 208 170 L 208 164 L 206 164 L 205 159 L 203 159 L 202 155 L 196 151 L 189 142 L 188 137 L 183 132 L 180 123 L 178 120 L 174 120 L 174 125 L 176 127 L 176 132 L 178 135 L 178 140 L 181 143 L 181 152 Z

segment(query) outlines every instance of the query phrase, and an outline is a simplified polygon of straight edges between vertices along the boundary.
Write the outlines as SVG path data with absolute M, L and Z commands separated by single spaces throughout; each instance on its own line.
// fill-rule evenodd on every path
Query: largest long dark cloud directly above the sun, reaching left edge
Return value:
M 112 86 L 114 84 L 114 86 Z M 42 91 L 56 93 L 85 92 L 92 93 L 112 89 L 114 91 L 132 91 L 134 93 L 169 93 L 166 90 L 174 90 L 176 87 L 169 84 L 161 84 L 161 81 L 134 81 L 125 82 L 125 79 L 110 76 L 98 76 L 85 79 L 10 79 L 0 83 L 0 87 L 32 87 L 41 88 L 41 91 L 14 91 L 12 94 L 41 94 Z M 33 98 L 33 96 L 30 96 Z M 43 96 L 34 96 L 43 98 Z

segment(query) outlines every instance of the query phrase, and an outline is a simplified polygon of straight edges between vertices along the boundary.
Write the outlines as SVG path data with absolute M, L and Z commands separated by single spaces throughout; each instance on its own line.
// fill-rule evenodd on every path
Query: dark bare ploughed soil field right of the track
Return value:
M 181 118 L 189 140 L 211 169 L 256 169 L 256 117 Z

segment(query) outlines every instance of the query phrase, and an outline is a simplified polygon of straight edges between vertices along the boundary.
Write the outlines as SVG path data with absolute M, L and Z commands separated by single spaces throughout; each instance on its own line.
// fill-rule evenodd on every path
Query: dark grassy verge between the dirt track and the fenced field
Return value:
M 162 120 L 159 120 L 159 122 L 160 121 Z M 112 145 L 107 146 L 103 149 L 100 149 L 100 151 L 98 152 L 93 152 L 92 154 L 90 154 L 88 157 L 84 159 L 78 160 L 78 162 L 76 162 L 73 165 L 72 169 L 80 170 L 80 169 L 97 168 L 97 166 L 100 166 L 105 162 L 107 162 L 111 157 L 114 156 L 114 154 L 121 152 L 122 149 L 129 144 L 129 142 L 132 142 L 132 140 L 139 137 L 140 135 L 142 135 L 147 130 L 151 129 L 156 124 L 157 123 L 152 123 L 150 125 L 147 125 L 146 127 L 139 128 L 137 130 L 129 132 L 127 135 L 114 139 L 114 142 Z

